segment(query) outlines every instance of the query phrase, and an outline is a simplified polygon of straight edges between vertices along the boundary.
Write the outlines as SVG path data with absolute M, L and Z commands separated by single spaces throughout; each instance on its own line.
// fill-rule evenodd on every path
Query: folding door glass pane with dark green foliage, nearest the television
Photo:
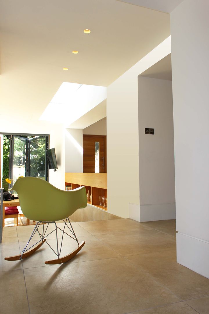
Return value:
M 29 176 L 40 177 L 45 180 L 46 138 L 35 137 L 29 139 Z

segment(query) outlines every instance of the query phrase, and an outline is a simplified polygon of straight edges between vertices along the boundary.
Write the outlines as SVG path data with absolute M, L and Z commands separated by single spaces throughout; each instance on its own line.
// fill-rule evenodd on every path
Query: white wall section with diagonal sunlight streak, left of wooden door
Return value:
M 83 130 L 65 129 L 65 172 L 83 172 Z

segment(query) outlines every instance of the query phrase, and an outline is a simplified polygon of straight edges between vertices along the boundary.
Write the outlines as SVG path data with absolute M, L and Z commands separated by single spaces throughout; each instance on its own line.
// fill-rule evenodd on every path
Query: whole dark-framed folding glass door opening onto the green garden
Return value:
M 5 190 L 13 186 L 20 176 L 40 177 L 48 181 L 46 150 L 48 135 L 3 135 L 2 186 Z M 12 179 L 11 184 L 6 179 Z M 8 180 L 7 180 L 8 181 Z

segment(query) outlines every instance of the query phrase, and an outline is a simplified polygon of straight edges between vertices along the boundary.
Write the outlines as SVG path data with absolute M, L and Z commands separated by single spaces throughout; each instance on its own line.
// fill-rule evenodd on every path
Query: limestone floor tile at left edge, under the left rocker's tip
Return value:
M 9 242 L 0 244 L 0 271 L 22 269 L 21 261 L 5 261 L 4 257 L 20 254 L 19 243 Z

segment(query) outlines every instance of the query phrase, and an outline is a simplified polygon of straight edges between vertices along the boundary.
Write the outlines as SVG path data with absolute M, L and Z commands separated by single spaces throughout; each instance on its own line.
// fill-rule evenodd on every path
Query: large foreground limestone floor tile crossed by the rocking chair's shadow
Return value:
M 122 314 L 179 301 L 123 257 L 24 273 L 31 314 Z

